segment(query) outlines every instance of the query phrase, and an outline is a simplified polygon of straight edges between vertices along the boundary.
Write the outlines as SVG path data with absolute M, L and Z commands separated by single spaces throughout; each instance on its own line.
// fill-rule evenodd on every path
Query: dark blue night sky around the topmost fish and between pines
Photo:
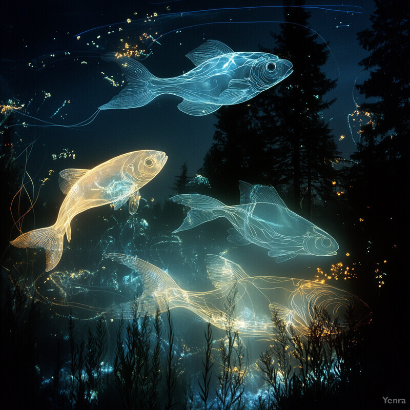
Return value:
M 165 151 L 169 160 L 141 193 L 163 200 L 172 194 L 170 187 L 182 163 L 187 162 L 194 176 L 212 144 L 215 116 L 186 115 L 177 109 L 180 98 L 171 95 L 137 109 L 101 111 L 89 124 L 76 127 L 125 84 L 119 67 L 103 61 L 101 55 L 122 51 L 127 43 L 129 49 L 145 50 L 138 59 L 154 75 L 172 77 L 193 68 L 185 55 L 207 39 L 220 40 L 234 51 L 273 47 L 270 33 L 278 32 L 283 20 L 283 7 L 277 1 L 138 3 L 16 1 L 3 9 L 0 103 L 12 99 L 16 106 L 24 105 L 20 113 L 30 115 L 16 113 L 14 117 L 16 124 L 28 124 L 14 128 L 22 140 L 16 153 L 25 158 L 25 147 L 30 146 L 27 168 L 38 183 L 50 169 L 55 171 L 43 195 L 58 190 L 56 175 L 66 164 L 92 168 L 128 151 L 155 149 Z M 250 4 L 252 8 L 247 7 Z M 266 4 L 271 7 L 263 7 Z M 307 6 L 317 4 L 306 2 Z M 339 150 L 348 157 L 355 149 L 347 120 L 355 110 L 353 94 L 358 103 L 363 100 L 354 84 L 367 75 L 358 65 L 366 52 L 356 33 L 370 25 L 374 5 L 371 0 L 360 0 L 354 6 L 334 1 L 325 4 L 309 9 L 309 23 L 320 35 L 318 41 L 325 40 L 331 50 L 324 70 L 338 83 L 326 98 L 337 101 L 324 117 L 337 141 L 344 135 Z M 120 86 L 113 87 L 113 81 Z M 292 75 L 285 81 L 291 84 Z M 44 127 L 50 124 L 65 127 Z M 353 129 L 354 137 L 356 131 Z M 52 154 L 65 150 L 75 153 L 75 161 L 56 166 Z

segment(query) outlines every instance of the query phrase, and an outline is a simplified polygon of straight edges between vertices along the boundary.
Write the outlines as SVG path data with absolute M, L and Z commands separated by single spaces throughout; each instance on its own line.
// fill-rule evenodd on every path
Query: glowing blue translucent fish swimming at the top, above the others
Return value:
M 278 84 L 292 73 L 292 63 L 276 55 L 234 52 L 217 40 L 208 40 L 187 54 L 195 64 L 188 73 L 158 78 L 127 56 L 108 55 L 124 71 L 128 85 L 101 110 L 142 107 L 161 94 L 183 98 L 179 110 L 207 115 L 223 105 L 243 103 Z

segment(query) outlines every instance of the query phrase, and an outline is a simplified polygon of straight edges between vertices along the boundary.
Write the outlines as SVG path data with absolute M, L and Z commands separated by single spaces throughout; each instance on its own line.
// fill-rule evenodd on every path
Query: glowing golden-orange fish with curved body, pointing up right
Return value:
M 140 198 L 138 190 L 161 171 L 167 159 L 167 155 L 160 151 L 133 151 L 92 170 L 61 171 L 59 185 L 67 196 L 61 204 L 57 221 L 51 227 L 20 235 L 10 243 L 17 248 L 44 248 L 46 272 L 51 271 L 63 254 L 64 234 L 70 242 L 70 222 L 75 215 L 109 203 L 117 210 L 127 201 L 130 214 L 134 214 Z

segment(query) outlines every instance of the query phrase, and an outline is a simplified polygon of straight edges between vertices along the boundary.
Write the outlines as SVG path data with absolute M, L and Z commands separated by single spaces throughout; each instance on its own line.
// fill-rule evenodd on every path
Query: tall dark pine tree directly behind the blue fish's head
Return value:
M 303 0 L 286 3 L 303 4 Z M 308 27 L 309 17 L 302 7 L 284 8 L 285 23 L 279 34 L 272 33 L 276 46 L 263 51 L 290 60 L 294 72 L 289 81 L 265 92 L 253 106 L 274 162 L 272 179 L 282 190 L 291 191 L 294 208 L 306 215 L 311 213 L 315 197 L 329 197 L 332 161 L 338 154 L 322 115 L 334 102 L 325 100 L 324 95 L 336 86 L 336 81 L 320 70 L 329 47 L 317 42 L 318 35 Z

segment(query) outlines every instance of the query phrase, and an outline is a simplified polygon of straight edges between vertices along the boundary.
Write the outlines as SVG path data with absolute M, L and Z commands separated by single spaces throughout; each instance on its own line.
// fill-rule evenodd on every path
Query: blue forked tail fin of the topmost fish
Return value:
M 111 101 L 98 107 L 100 110 L 142 107 L 156 97 L 156 94 L 152 92 L 149 86 L 150 81 L 156 77 L 139 61 L 127 56 L 117 57 L 115 54 L 108 54 L 104 59 L 106 61 L 115 61 L 121 67 L 128 84 Z

